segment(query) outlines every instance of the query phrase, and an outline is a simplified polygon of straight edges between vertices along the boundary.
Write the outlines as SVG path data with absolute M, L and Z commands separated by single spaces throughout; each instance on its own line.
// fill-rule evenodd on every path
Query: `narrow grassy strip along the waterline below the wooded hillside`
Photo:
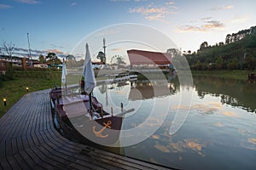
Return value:
M 250 71 L 191 71 L 193 76 L 232 78 L 236 80 L 247 80 Z

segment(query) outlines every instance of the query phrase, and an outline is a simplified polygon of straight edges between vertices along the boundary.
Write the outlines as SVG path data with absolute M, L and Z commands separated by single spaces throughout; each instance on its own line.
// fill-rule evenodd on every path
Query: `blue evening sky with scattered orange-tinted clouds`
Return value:
M 124 51 L 118 50 L 122 45 L 126 50 L 146 49 L 134 43 L 133 46 L 124 45 L 127 37 L 136 34 L 132 41 L 140 40 L 145 44 L 150 39 L 160 39 L 150 31 L 143 31 L 148 27 L 170 38 L 182 51 L 194 52 L 202 42 L 214 45 L 224 42 L 227 34 L 256 26 L 255 7 L 253 0 L 1 0 L 0 44 L 13 42 L 17 48 L 15 53 L 26 55 L 29 33 L 32 54 L 55 52 L 64 56 L 73 54 L 78 43 L 84 42 L 84 37 L 85 40 L 86 37 L 93 38 L 91 35 L 101 32 L 102 37 L 96 42 L 99 47 L 105 37 L 108 55 L 125 55 Z M 113 38 L 117 33 L 114 28 L 127 28 L 126 24 L 143 26 L 143 29 L 134 31 L 136 29 L 128 25 L 129 31 L 123 31 L 126 37 Z M 142 40 L 141 36 L 148 38 Z M 114 43 L 118 38 L 126 39 Z M 161 43 L 162 48 L 155 48 L 160 52 L 169 48 L 168 41 L 156 42 Z M 96 50 L 102 48 L 93 50 L 93 60 Z

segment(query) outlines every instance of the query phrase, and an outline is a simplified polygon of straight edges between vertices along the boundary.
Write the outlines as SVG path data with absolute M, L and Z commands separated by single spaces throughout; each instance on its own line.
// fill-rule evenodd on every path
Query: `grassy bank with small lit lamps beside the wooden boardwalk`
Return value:
M 61 85 L 61 71 L 14 71 L 14 80 L 4 81 L 0 87 L 0 117 L 6 113 L 24 94 Z M 26 87 L 29 88 L 26 92 Z M 3 97 L 7 105 L 3 105 Z

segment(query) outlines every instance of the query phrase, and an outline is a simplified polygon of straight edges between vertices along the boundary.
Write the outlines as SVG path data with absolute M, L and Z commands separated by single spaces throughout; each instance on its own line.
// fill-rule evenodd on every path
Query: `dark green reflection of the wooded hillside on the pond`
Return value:
M 255 111 L 255 84 L 246 81 L 218 77 L 194 76 L 195 90 L 203 99 L 206 94 L 221 96 L 223 104 L 242 106 L 246 111 Z

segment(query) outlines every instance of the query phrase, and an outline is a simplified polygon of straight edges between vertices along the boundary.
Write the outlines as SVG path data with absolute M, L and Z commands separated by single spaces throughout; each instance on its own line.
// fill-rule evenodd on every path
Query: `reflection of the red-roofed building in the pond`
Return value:
M 177 90 L 172 83 L 166 81 L 137 81 L 131 82 L 131 90 L 129 94 L 129 99 L 139 100 L 139 99 L 152 99 L 157 97 L 164 97 Z

